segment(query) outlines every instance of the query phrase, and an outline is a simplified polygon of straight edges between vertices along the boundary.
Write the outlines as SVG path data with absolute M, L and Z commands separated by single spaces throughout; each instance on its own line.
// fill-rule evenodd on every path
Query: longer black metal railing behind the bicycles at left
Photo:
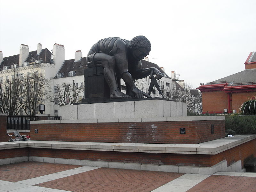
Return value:
M 29 130 L 30 120 L 38 120 L 38 116 L 7 116 L 6 129 Z

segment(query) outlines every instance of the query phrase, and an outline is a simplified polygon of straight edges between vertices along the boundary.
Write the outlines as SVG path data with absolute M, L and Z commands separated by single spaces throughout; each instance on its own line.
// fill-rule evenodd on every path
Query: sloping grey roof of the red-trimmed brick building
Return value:
M 212 82 L 233 82 L 233 84 L 256 82 L 256 69 L 246 69 Z

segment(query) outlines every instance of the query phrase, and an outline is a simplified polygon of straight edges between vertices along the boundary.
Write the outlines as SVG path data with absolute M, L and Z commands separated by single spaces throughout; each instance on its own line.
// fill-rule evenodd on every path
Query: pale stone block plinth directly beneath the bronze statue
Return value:
M 61 106 L 62 120 L 133 119 L 187 116 L 187 104 L 169 100 L 135 100 Z

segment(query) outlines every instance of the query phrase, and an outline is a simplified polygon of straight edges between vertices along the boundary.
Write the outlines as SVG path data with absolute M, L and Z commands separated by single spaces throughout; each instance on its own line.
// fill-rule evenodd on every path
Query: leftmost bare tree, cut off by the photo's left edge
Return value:
M 21 110 L 19 101 L 20 79 L 14 78 L 0 83 L 0 112 L 9 116 L 18 115 Z

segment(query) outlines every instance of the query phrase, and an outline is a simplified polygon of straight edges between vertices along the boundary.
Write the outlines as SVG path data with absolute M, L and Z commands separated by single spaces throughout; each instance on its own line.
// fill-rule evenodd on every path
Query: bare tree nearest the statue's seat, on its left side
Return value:
M 57 85 L 57 93 L 53 96 L 51 101 L 55 105 L 73 105 L 77 102 L 81 102 L 78 100 L 78 96 L 80 93 L 84 92 L 84 86 L 75 86 L 73 84 L 62 83 Z

